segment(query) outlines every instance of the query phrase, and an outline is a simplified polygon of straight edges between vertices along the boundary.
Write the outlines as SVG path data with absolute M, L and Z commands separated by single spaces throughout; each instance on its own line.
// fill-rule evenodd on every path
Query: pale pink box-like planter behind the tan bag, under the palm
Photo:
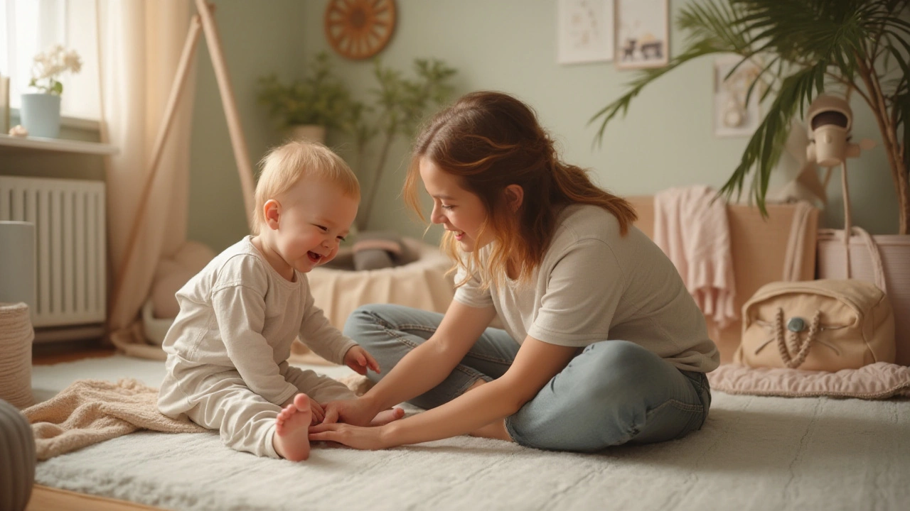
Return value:
M 818 235 L 818 277 L 847 278 L 843 231 L 823 229 Z M 871 236 L 882 261 L 885 294 L 895 311 L 895 363 L 910 366 L 910 235 Z M 849 278 L 875 282 L 870 247 L 850 236 Z

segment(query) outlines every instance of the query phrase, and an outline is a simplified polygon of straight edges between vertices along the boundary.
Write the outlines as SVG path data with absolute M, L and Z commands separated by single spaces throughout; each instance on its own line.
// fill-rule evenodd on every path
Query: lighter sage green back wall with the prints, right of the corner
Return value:
M 673 0 L 672 17 L 689 2 Z M 329 48 L 321 31 L 327 2 L 307 2 L 306 55 Z M 600 185 L 621 195 L 653 194 L 677 185 L 720 187 L 733 172 L 747 138 L 717 138 L 712 126 L 713 62 L 689 63 L 646 88 L 625 119 L 613 121 L 602 147 L 592 147 L 597 126 L 588 120 L 622 95 L 635 75 L 612 63 L 556 63 L 556 2 L 553 0 L 398 0 L 399 23 L 379 56 L 386 65 L 410 69 L 414 57 L 437 57 L 459 69 L 460 93 L 497 89 L 535 107 L 542 124 L 561 144 L 564 159 L 591 168 Z M 680 53 L 684 34 L 673 29 L 671 51 Z M 349 83 L 370 86 L 368 63 L 341 67 Z M 854 104 L 854 137 L 880 139 L 868 108 Z M 402 145 L 389 158 L 380 188 L 377 227 L 406 225 L 399 186 Z M 854 223 L 874 233 L 897 229 L 897 202 L 881 149 L 850 161 Z M 832 207 L 825 222 L 842 222 L 840 185 L 834 175 Z M 420 228 L 416 231 L 420 232 Z

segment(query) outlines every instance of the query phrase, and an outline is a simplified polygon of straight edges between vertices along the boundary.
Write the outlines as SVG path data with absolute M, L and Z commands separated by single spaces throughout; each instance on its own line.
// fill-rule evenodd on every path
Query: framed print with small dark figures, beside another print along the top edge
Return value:
M 620 69 L 670 62 L 669 0 L 615 0 L 616 58 Z

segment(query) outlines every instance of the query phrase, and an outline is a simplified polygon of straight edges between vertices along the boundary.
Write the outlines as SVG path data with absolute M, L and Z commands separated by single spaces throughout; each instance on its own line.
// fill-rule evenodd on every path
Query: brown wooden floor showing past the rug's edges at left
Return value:
M 48 344 L 35 345 L 32 351 L 32 364 L 34 366 L 51 366 L 61 362 L 74 362 L 85 358 L 98 358 L 113 356 L 114 348 L 98 346 L 95 343 L 74 344 Z M 125 500 L 116 500 L 103 496 L 92 496 L 76 492 L 61 490 L 48 486 L 35 485 L 32 488 L 32 497 L 28 501 L 26 511 L 130 511 L 130 510 L 156 510 L 157 507 L 143 506 Z

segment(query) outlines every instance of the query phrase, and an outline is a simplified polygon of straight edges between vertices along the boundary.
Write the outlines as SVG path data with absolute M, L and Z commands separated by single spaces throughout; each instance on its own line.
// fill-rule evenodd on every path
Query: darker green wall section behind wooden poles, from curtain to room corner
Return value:
M 216 0 L 215 17 L 254 170 L 281 135 L 257 104 L 260 75 L 299 74 L 307 24 L 300 0 Z M 197 54 L 187 236 L 220 251 L 248 234 L 237 163 L 205 42 Z

